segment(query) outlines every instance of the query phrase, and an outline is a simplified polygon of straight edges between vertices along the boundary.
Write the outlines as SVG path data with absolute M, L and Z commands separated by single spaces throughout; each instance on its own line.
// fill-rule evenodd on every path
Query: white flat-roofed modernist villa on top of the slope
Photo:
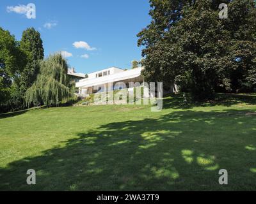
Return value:
M 116 67 L 103 69 L 88 74 L 88 78 L 84 78 L 76 82 L 76 87 L 79 88 L 79 96 L 86 97 L 88 94 L 96 92 L 106 92 L 118 89 L 129 88 L 129 82 L 143 83 L 141 70 L 135 69 L 120 69 Z M 141 84 L 142 85 L 142 84 Z

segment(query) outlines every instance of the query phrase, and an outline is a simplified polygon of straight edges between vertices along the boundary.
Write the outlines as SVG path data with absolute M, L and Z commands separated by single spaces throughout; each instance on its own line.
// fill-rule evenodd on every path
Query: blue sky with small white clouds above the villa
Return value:
M 28 3 L 36 5 L 35 19 L 15 8 Z M 46 56 L 72 54 L 68 64 L 90 73 L 111 66 L 129 68 L 133 59 L 141 59 L 136 34 L 150 23 L 149 9 L 147 0 L 1 0 L 0 26 L 17 40 L 24 29 L 35 27 Z

